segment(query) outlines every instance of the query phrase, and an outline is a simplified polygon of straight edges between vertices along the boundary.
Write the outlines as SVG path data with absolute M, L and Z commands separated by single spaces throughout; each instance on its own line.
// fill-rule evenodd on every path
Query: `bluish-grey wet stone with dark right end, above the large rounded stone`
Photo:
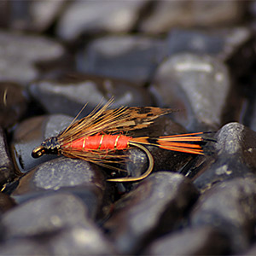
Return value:
M 168 55 L 185 52 L 212 55 L 230 65 L 233 72 L 241 74 L 241 68 L 247 70 L 255 58 L 252 36 L 252 32 L 242 26 L 211 31 L 173 29 L 167 38 Z

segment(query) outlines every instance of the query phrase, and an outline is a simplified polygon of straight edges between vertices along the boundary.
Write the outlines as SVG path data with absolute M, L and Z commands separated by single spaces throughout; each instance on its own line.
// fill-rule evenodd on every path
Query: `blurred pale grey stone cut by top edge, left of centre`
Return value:
M 67 41 L 82 34 L 129 32 L 136 25 L 144 1 L 75 1 L 61 15 L 57 35 Z

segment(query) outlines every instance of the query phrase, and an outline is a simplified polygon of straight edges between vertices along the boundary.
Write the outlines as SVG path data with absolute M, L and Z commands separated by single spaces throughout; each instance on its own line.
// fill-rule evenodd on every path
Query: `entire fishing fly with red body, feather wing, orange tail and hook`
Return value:
M 148 156 L 148 170 L 140 177 L 109 178 L 109 182 L 136 182 L 152 172 L 154 159 L 145 145 L 164 148 L 189 154 L 204 154 L 201 143 L 206 139 L 200 135 L 203 132 L 171 135 L 163 137 L 130 137 L 125 133 L 148 127 L 161 115 L 172 113 L 171 108 L 154 107 L 121 107 L 108 109 L 113 99 L 100 108 L 98 105 L 83 119 L 74 119 L 56 137 L 49 137 L 38 148 L 32 151 L 32 157 L 38 158 L 43 154 L 62 154 L 70 158 L 78 158 L 118 169 L 111 166 L 119 158 L 117 150 L 140 148 Z M 85 107 L 85 106 L 84 106 Z M 119 170 L 119 169 L 118 169 Z

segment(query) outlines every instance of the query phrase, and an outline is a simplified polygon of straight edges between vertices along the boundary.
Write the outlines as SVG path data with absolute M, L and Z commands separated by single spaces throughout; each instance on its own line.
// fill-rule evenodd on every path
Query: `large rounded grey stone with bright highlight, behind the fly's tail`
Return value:
M 179 54 L 163 62 L 151 84 L 165 106 L 184 109 L 174 119 L 189 131 L 216 131 L 231 84 L 224 64 L 209 55 Z

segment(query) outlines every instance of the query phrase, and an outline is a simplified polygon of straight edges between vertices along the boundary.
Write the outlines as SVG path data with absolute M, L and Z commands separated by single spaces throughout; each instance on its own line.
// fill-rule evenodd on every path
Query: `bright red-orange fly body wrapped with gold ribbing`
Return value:
M 91 149 L 108 150 L 108 149 L 125 149 L 131 137 L 121 134 L 97 134 L 90 137 L 82 137 L 71 143 L 63 145 L 64 148 L 75 148 L 77 150 L 89 151 Z

